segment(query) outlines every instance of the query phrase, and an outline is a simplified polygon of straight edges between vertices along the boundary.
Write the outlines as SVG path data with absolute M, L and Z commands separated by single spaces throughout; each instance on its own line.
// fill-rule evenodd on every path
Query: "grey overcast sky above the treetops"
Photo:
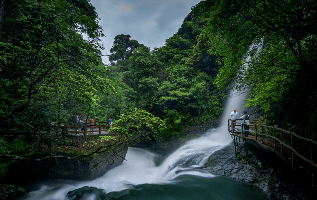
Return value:
M 100 38 L 110 55 L 114 37 L 129 34 L 147 47 L 162 47 L 200 0 L 91 0 L 101 18 L 105 37 Z

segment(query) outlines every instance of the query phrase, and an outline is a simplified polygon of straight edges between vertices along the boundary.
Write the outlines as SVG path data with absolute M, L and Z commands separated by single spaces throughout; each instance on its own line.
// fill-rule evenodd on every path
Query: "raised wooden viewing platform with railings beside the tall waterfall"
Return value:
M 233 125 L 235 125 L 234 130 L 232 130 Z M 244 125 L 248 125 L 249 130 L 245 130 Z M 248 137 L 245 137 L 247 131 L 249 132 Z M 277 126 L 259 124 L 258 119 L 254 119 L 251 122 L 246 120 L 246 123 L 244 123 L 243 119 L 236 119 L 236 122 L 228 119 L 228 132 L 233 139 L 236 155 L 239 145 L 242 142 L 245 144 L 244 151 L 248 163 L 250 162 L 248 145 L 261 146 L 271 152 L 275 152 L 294 169 L 294 172 L 298 173 L 299 177 L 302 177 L 307 182 L 311 182 L 311 185 L 316 187 L 316 177 L 314 177 L 314 172 L 317 168 L 317 159 L 315 156 L 316 141 L 304 138 Z M 301 143 L 307 143 L 307 147 L 310 149 L 309 153 L 303 151 L 299 153 L 299 151 L 296 151 L 295 142 L 298 144 L 299 140 L 301 140 Z M 311 178 L 309 178 L 309 173 L 307 174 L 307 172 L 311 172 Z

